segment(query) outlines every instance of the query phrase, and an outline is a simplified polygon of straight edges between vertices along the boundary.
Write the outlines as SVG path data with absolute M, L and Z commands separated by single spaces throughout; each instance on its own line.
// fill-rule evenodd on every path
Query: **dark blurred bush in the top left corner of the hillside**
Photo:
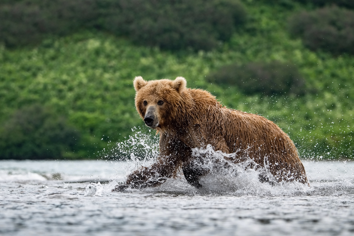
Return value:
M 94 0 L 20 0 L 0 4 L 0 41 L 35 44 L 46 34 L 66 35 L 95 25 Z

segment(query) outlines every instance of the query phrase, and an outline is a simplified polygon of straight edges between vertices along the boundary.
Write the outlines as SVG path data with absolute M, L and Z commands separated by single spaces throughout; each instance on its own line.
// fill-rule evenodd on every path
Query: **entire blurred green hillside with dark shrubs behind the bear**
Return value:
M 2 1 L 0 159 L 107 158 L 137 129 L 153 136 L 138 75 L 184 76 L 274 121 L 302 159 L 350 159 L 353 10 L 319 2 Z

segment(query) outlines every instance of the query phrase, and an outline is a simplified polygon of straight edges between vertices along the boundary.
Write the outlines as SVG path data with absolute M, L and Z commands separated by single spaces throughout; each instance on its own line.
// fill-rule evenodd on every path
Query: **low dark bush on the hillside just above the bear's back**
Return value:
M 295 65 L 278 61 L 228 65 L 207 76 L 220 85 L 236 85 L 245 94 L 303 94 L 304 80 Z

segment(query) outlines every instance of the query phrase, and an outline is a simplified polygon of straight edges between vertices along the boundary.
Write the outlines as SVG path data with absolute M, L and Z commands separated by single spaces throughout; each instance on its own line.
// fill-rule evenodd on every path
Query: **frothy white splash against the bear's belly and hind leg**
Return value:
M 263 168 L 249 157 L 240 159 L 239 152 L 240 150 L 226 154 L 215 151 L 211 145 L 207 145 L 206 148 L 192 149 L 194 165 L 209 171 L 200 178 L 199 183 L 202 188 L 198 189 L 198 192 L 218 195 L 274 196 L 293 195 L 297 191 L 309 190 L 309 187 L 302 183 L 276 182 L 267 165 Z M 235 163 L 237 159 L 240 161 Z M 270 183 L 260 182 L 259 175 L 266 176 Z

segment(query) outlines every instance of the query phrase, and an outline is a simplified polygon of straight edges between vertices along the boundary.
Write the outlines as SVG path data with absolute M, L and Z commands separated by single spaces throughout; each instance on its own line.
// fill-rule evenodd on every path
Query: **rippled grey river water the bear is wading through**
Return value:
M 310 187 L 244 173 L 112 193 L 134 163 L 0 161 L 0 234 L 354 235 L 354 163 L 303 163 Z M 102 196 L 84 196 L 99 180 Z

